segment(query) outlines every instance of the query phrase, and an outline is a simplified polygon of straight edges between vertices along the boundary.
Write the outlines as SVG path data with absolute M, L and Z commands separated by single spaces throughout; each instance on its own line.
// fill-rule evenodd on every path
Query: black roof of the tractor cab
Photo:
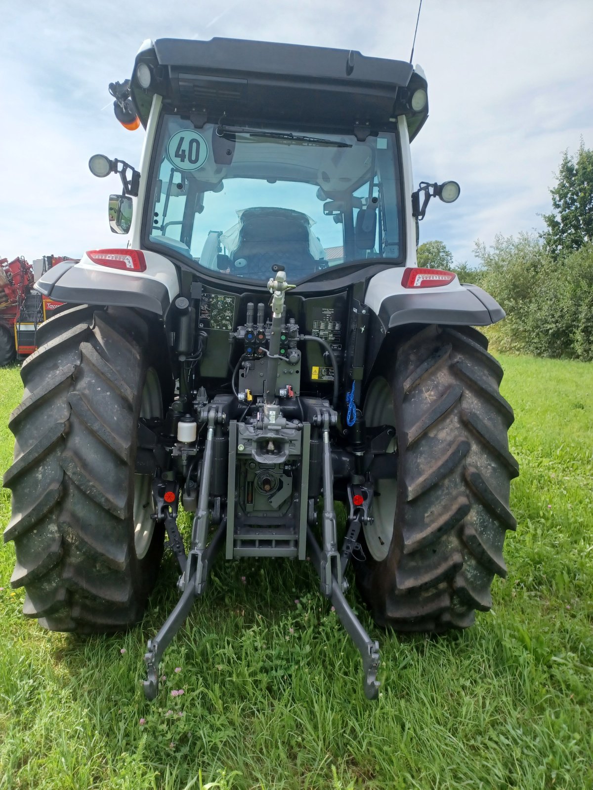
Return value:
M 138 82 L 138 66 L 150 85 Z M 146 73 L 146 72 L 145 72 Z M 363 138 L 390 130 L 406 115 L 410 139 L 426 120 L 411 96 L 426 81 L 405 61 L 368 58 L 354 50 L 213 38 L 145 42 L 134 63 L 131 91 L 146 125 L 154 93 L 165 106 L 200 122 L 240 122 L 353 130 Z

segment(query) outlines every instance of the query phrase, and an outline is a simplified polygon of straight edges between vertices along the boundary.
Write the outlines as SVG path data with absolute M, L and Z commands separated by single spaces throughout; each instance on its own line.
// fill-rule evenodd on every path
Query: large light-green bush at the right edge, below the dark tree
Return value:
M 488 332 L 499 351 L 593 359 L 593 244 L 552 261 L 539 239 L 497 236 L 476 257 L 474 279 L 507 312 Z

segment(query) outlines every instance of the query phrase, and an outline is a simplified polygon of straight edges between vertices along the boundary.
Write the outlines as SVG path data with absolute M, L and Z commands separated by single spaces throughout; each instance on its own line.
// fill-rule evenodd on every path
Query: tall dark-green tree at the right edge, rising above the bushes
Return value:
M 593 241 L 593 151 L 585 148 L 582 138 L 576 156 L 564 152 L 550 194 L 553 213 L 542 214 L 548 229 L 541 235 L 557 260 Z

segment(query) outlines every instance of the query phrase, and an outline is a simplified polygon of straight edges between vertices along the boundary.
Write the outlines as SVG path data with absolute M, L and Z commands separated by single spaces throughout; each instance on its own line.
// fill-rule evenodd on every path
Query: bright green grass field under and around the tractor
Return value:
M 519 527 L 508 579 L 473 628 L 400 638 L 362 613 L 382 656 L 381 696 L 367 702 L 357 652 L 308 563 L 219 562 L 147 703 L 142 655 L 176 600 L 172 558 L 142 625 L 82 639 L 21 616 L 9 544 L 0 788 L 591 788 L 593 366 L 502 362 Z M 0 388 L 6 468 L 16 368 L 0 371 Z M 8 517 L 0 491 L 2 526 Z

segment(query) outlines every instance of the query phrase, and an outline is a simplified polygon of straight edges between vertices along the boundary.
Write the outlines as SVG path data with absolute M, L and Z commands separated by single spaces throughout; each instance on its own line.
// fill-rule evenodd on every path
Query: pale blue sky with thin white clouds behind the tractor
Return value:
M 417 0 L 0 0 L 0 258 L 80 255 L 125 243 L 107 224 L 119 179 L 89 156 L 138 164 L 142 130 L 115 121 L 108 83 L 130 76 L 146 38 L 213 36 L 357 49 L 408 60 Z M 455 179 L 421 241 L 456 261 L 474 242 L 542 228 L 562 152 L 593 147 L 591 0 L 424 0 L 414 62 L 430 116 L 414 179 Z M 115 242 L 115 244 L 114 244 Z

